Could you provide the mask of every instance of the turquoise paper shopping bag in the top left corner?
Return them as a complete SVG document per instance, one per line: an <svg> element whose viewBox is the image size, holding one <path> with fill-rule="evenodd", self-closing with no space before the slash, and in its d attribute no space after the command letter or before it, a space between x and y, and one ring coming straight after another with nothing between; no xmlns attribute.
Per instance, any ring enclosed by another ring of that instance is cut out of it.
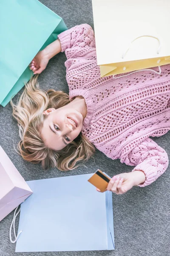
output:
<svg viewBox="0 0 170 256"><path fill-rule="evenodd" d="M28 82L28 65L67 29L64 21L38 0L0 1L0 104L5 107Z"/></svg>

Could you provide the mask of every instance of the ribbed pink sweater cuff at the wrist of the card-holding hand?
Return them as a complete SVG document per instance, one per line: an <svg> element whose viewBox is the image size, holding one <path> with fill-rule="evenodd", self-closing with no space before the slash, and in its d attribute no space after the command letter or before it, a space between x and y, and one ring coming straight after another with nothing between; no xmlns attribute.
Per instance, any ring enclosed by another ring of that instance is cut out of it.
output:
<svg viewBox="0 0 170 256"><path fill-rule="evenodd" d="M157 168L155 166L151 166L149 163L140 163L132 170L132 172L134 171L142 171L145 174L146 180L144 183L138 185L140 187L150 185L156 180Z"/></svg>

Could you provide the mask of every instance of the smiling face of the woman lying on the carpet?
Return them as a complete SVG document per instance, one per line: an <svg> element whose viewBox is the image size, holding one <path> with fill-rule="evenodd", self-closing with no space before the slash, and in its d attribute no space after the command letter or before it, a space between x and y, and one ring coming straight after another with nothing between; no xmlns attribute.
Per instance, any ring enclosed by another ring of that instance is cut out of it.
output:
<svg viewBox="0 0 170 256"><path fill-rule="evenodd" d="M49 108L41 130L42 139L48 148L59 151L73 141L82 129L82 114L65 105L62 108Z"/></svg>

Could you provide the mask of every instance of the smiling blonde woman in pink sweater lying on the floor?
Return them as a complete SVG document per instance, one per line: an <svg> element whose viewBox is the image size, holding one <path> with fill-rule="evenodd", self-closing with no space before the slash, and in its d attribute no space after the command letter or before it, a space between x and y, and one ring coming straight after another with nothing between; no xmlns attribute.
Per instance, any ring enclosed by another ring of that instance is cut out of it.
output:
<svg viewBox="0 0 170 256"><path fill-rule="evenodd" d="M41 90L36 75L17 105L11 102L22 157L41 162L43 168L67 171L88 160L96 147L107 157L135 166L132 172L113 176L108 190L122 194L155 181L167 169L168 156L149 137L170 130L170 65L161 67L161 75L153 69L119 79L101 78L94 31L82 24L38 52L30 69L41 73L59 52L67 57L69 96Z"/></svg>

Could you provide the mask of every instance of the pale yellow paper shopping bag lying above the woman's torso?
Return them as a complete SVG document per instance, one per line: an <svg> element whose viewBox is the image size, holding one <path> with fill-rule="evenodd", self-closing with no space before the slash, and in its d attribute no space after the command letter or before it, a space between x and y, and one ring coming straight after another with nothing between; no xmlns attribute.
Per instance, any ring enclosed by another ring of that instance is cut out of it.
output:
<svg viewBox="0 0 170 256"><path fill-rule="evenodd" d="M170 1L92 0L101 77L170 63Z"/></svg>

